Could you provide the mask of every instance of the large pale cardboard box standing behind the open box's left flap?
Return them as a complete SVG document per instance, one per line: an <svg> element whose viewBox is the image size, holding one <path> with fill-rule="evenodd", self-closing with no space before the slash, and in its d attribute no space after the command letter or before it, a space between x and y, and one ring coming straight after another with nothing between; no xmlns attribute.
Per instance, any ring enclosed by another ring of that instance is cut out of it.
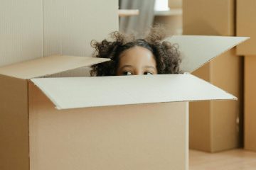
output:
<svg viewBox="0 0 256 170"><path fill-rule="evenodd" d="M91 40L118 30L117 9L117 0L1 1L0 67L55 54L90 56Z"/></svg>

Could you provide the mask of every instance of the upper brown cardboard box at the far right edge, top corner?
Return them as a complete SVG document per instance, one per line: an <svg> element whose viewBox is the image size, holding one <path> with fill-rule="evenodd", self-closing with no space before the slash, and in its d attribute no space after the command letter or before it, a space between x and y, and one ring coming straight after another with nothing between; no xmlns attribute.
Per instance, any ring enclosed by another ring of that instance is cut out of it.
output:
<svg viewBox="0 0 256 170"><path fill-rule="evenodd" d="M236 35L248 36L250 40L238 45L237 55L256 55L256 1L237 0L236 5Z"/></svg>

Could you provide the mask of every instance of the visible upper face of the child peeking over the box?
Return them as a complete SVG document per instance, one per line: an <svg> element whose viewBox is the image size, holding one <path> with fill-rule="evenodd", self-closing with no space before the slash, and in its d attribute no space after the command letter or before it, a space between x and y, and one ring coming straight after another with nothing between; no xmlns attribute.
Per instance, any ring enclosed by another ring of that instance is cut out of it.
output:
<svg viewBox="0 0 256 170"><path fill-rule="evenodd" d="M132 47L122 52L119 57L117 76L157 74L154 55L144 47Z"/></svg>

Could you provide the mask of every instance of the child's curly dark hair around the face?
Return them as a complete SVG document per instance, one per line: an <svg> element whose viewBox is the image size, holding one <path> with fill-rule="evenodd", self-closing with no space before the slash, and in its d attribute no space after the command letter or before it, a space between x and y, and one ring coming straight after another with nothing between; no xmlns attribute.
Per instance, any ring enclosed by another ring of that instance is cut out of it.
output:
<svg viewBox="0 0 256 170"><path fill-rule="evenodd" d="M119 64L119 56L125 50L139 46L145 47L154 55L158 74L178 74L181 63L178 45L163 41L165 33L162 28L151 28L145 38L136 39L135 35L125 35L117 31L111 33L112 40L97 42L92 40L95 48L93 57L110 58L110 62L103 62L92 66L91 76L114 76Z"/></svg>

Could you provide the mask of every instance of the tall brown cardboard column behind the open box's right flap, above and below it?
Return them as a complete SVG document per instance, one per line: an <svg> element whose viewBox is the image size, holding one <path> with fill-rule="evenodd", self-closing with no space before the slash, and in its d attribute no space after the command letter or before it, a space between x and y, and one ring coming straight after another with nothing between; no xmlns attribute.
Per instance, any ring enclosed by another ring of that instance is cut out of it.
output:
<svg viewBox="0 0 256 170"><path fill-rule="evenodd" d="M234 0L183 0L183 34L232 36L235 34L234 13ZM238 101L190 103L190 148L218 152L239 147L242 58L230 50L193 74L233 91Z"/></svg>

